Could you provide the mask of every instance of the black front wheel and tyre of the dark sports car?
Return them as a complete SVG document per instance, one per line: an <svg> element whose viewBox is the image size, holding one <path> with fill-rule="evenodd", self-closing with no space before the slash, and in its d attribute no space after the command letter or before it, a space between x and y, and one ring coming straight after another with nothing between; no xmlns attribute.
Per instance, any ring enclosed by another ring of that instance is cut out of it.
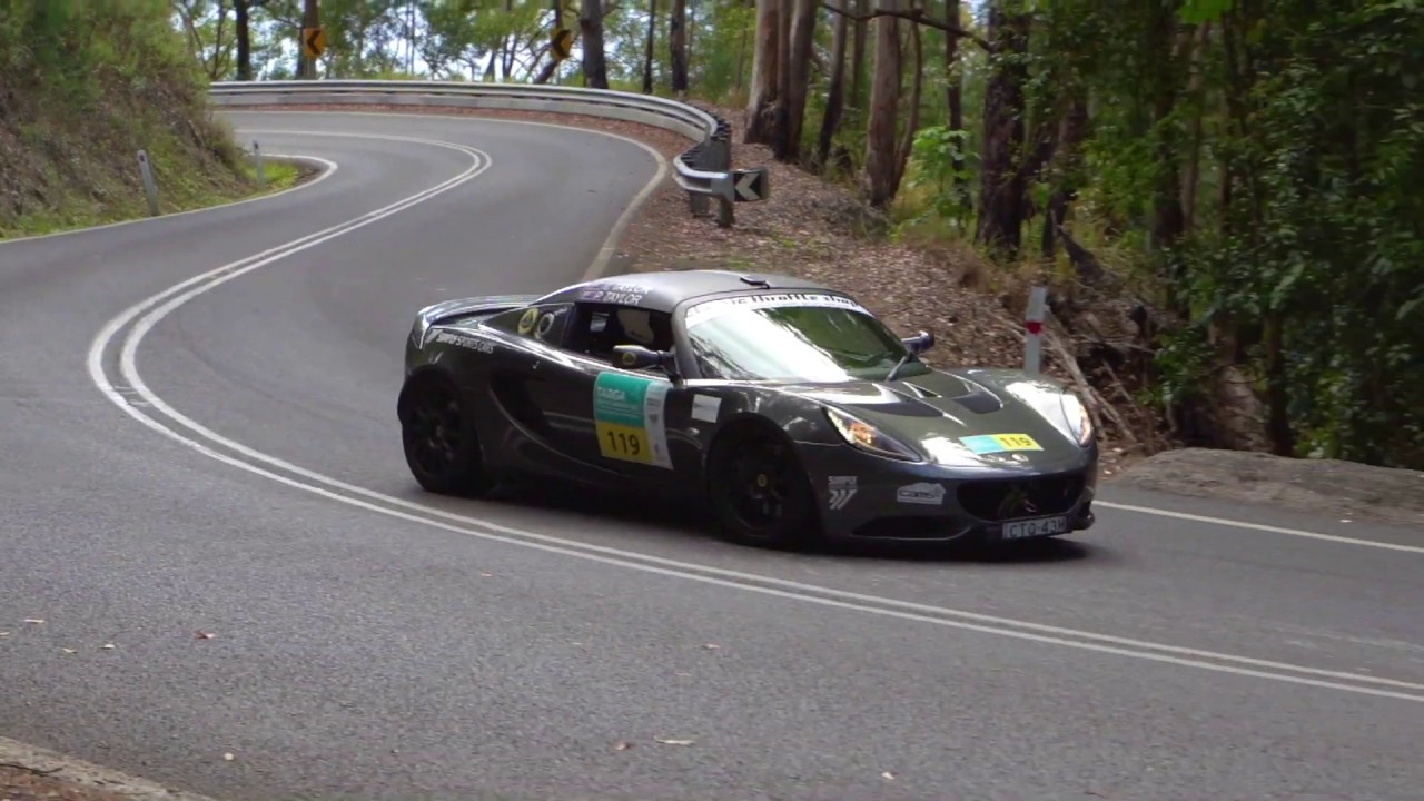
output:
<svg viewBox="0 0 1424 801"><path fill-rule="evenodd" d="M708 500L722 537L738 544L800 549L819 540L816 495L780 430L743 425L708 458Z"/></svg>

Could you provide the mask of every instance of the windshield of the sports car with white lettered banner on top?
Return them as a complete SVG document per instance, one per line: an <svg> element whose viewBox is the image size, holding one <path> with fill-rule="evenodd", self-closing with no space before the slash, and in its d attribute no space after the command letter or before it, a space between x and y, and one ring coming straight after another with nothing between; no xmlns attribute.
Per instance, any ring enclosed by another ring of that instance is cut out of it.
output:
<svg viewBox="0 0 1424 801"><path fill-rule="evenodd" d="M759 308L753 301L716 308L719 304L722 301L709 301L688 311L688 341L705 378L881 381L906 355L894 334L849 301L844 306L768 304ZM709 309L703 312L702 306ZM928 368L911 358L899 375L926 372Z"/></svg>

